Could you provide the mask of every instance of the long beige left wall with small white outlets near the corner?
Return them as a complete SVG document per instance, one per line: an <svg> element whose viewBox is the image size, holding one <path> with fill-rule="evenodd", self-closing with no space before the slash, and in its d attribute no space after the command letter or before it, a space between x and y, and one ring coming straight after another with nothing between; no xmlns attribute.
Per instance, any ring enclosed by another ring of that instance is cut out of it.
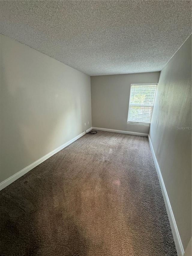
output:
<svg viewBox="0 0 192 256"><path fill-rule="evenodd" d="M92 125L90 76L0 40L1 182Z"/></svg>

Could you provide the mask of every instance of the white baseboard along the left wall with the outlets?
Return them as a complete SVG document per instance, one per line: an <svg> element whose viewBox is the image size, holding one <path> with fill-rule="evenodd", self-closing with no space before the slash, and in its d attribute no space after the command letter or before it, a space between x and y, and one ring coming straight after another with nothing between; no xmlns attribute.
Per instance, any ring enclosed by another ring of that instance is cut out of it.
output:
<svg viewBox="0 0 192 256"><path fill-rule="evenodd" d="M88 130L86 130L87 132L91 131L92 127L89 128ZM42 162L44 162L46 159L48 159L49 157L51 157L52 155L56 154L57 152L59 152L61 149L64 149L66 146L70 145L71 143L73 143L75 140L78 140L80 137L82 137L83 135L85 135L85 132L82 132L81 134L77 135L76 137L74 137L73 139L67 141L66 143L64 143L63 145L61 145L60 147L58 147L57 149L54 149L53 151L51 151L50 153L48 153L47 155L44 155L43 157L41 157L40 159L38 159L37 161L35 161L34 163L30 164L29 166L25 167L24 169L20 170L19 172L15 173L13 176L9 177L8 179L4 180L3 182L0 183L0 190L2 190L3 188L7 187L8 185L10 185L12 182L14 182L16 179L19 179L21 176L23 176L24 174L26 174L27 172L29 172L30 170L32 170L33 168L35 168L37 165L41 164Z"/></svg>

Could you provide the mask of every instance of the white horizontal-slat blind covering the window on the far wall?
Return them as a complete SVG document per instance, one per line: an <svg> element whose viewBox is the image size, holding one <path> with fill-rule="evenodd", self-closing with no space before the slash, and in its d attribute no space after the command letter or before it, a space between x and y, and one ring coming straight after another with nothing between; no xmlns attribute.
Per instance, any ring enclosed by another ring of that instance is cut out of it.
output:
<svg viewBox="0 0 192 256"><path fill-rule="evenodd" d="M157 84L132 84L129 100L128 123L150 124Z"/></svg>

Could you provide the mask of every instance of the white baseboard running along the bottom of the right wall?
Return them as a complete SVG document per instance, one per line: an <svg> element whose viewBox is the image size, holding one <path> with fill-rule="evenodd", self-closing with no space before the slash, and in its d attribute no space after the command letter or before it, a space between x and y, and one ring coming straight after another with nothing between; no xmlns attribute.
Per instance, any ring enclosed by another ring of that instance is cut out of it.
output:
<svg viewBox="0 0 192 256"><path fill-rule="evenodd" d="M172 211L172 208L171 208L169 197L168 197L168 194L167 194L167 191L166 191L166 188L165 188L163 177L161 175L161 170L159 168L158 161L157 161L157 158L155 156L155 152L154 152L154 149L153 149L153 145L152 145L150 136L148 136L148 138L149 138L149 145L150 145L152 155L153 155L153 160L154 160L155 167L156 167L156 170L157 170L157 173L158 173L158 178L159 178L159 182L160 182L160 185L161 185L161 190L162 190L162 194L163 194L163 197L164 197L165 206L166 206L167 214L168 214L169 221L170 221L170 226L171 226L171 230L172 230L172 233L173 233L173 239L175 241L177 254L178 254L178 256L183 256L184 255L184 248L183 248L182 241L181 241L179 231L178 231L178 228L177 228L177 224L176 224L176 221L175 221L175 218L174 218L174 215L173 215L173 211Z"/></svg>

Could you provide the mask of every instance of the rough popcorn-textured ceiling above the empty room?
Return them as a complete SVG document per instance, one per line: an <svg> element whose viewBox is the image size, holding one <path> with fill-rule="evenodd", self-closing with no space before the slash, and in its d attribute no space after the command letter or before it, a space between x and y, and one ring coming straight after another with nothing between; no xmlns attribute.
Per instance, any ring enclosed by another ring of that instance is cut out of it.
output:
<svg viewBox="0 0 192 256"><path fill-rule="evenodd" d="M91 76L160 71L191 1L0 1L0 33Z"/></svg>

